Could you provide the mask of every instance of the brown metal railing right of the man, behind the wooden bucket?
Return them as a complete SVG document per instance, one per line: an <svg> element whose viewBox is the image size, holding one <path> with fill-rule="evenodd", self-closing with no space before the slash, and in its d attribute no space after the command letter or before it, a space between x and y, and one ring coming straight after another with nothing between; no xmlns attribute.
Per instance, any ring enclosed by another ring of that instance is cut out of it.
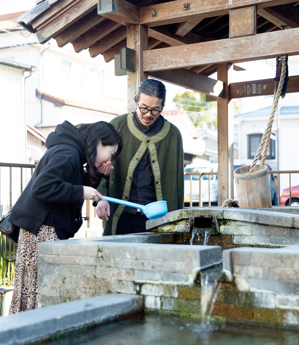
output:
<svg viewBox="0 0 299 345"><path fill-rule="evenodd" d="M289 200L291 200L291 174L299 174L299 170L270 170L269 171L269 178L270 174L277 175L277 203L280 206L280 175L281 174L289 174ZM209 203L208 205L211 206L211 188L210 188L210 177L211 175L218 175L218 172L185 172L185 175L190 176L190 207L193 205L192 201L192 176L197 175L199 176L199 206L202 206L202 176L208 175L209 176ZM193 180L194 181L194 180ZM195 202L195 201L194 201ZM197 203L197 201L196 201ZM289 202L290 204L290 202Z"/></svg>

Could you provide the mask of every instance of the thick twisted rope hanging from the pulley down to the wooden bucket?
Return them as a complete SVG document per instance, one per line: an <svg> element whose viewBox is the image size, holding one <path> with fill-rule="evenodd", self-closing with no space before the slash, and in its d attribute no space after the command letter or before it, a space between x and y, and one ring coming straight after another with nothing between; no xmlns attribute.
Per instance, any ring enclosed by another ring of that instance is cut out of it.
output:
<svg viewBox="0 0 299 345"><path fill-rule="evenodd" d="M267 155L267 150L268 150L268 144L269 144L269 140L270 140L271 129L272 129L272 124L273 124L273 120L274 120L274 115L275 115L275 111L276 111L277 104L278 104L278 101L279 101L279 97L280 97L280 94L281 94L282 86L284 85L284 82L285 82L285 76L286 76L286 71L287 71L286 60L282 59L281 62L282 62L281 75L280 75L280 80L279 80L277 91L274 93L274 100L273 100L273 105L272 105L271 113L270 113L269 120L268 120L266 129L265 129L265 133L264 133L263 137L261 138L261 142L259 144L259 148L258 148L258 150L256 152L256 155L255 155L254 160L252 162L252 165L250 167L249 174L252 174L254 172L254 168L255 168L256 163L257 163L257 161L259 159L261 151L263 150L263 147L265 145L266 139L268 139L268 137L269 137L268 142L267 142L267 147L265 145L266 151L264 150L262 161L261 161L261 164L265 163L265 159L266 159L266 155Z"/></svg>

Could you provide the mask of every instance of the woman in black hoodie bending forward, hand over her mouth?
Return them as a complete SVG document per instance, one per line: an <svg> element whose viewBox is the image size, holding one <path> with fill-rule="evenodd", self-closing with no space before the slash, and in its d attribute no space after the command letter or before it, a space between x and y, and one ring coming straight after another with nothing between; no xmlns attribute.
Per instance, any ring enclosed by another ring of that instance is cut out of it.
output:
<svg viewBox="0 0 299 345"><path fill-rule="evenodd" d="M38 242L74 237L83 223L84 200L105 200L95 188L113 169L122 140L104 121L77 126L64 121L46 147L9 217L20 227L10 314L38 307Z"/></svg>

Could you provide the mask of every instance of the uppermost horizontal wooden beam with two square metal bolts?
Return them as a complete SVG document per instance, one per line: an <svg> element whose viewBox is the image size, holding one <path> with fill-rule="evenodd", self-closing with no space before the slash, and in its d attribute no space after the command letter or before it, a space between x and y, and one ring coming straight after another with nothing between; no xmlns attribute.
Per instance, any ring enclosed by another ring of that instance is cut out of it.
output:
<svg viewBox="0 0 299 345"><path fill-rule="evenodd" d="M153 27L182 21L201 20L228 14L229 10L234 8L254 5L269 7L290 2L290 0L234 0L232 4L229 4L227 0L201 0L190 4L189 10L184 10L185 0L174 0L140 7L140 24ZM157 11L156 17L152 17L152 11Z"/></svg>

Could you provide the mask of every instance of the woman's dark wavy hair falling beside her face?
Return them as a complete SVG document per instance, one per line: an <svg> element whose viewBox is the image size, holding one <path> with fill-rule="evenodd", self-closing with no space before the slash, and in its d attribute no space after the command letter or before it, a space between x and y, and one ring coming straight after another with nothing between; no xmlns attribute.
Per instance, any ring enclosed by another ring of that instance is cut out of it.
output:
<svg viewBox="0 0 299 345"><path fill-rule="evenodd" d="M123 147L122 139L114 126L106 121L98 121L94 122L93 124L78 124L75 127L85 141L85 154L87 159L86 170L89 173L90 184L94 184L97 182L100 175L94 165L99 140L102 141L102 145L104 147L118 144L118 149L111 159L111 161L115 161L120 155Z"/></svg>

